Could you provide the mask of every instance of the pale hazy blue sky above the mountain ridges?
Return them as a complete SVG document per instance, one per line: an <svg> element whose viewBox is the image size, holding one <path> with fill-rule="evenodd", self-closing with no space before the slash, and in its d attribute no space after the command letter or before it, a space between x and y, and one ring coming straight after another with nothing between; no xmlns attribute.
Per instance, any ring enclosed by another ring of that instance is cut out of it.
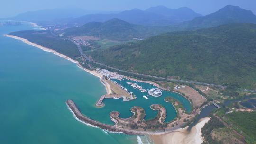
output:
<svg viewBox="0 0 256 144"><path fill-rule="evenodd" d="M40 9L80 7L88 10L116 11L146 9L164 5L168 8L189 7L203 15L217 11L225 5L240 6L256 14L256 0L0 0L0 17Z"/></svg>

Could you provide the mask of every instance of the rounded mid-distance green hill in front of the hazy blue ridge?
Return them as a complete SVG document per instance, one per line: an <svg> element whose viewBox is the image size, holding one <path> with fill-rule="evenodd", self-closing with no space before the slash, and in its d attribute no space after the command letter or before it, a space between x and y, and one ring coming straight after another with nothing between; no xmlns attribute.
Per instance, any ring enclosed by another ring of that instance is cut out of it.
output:
<svg viewBox="0 0 256 144"><path fill-rule="evenodd" d="M64 36L95 36L104 39L127 41L133 38L144 39L165 33L170 28L140 26L120 19L111 19L104 23L90 22L81 27L68 28L58 33Z"/></svg>

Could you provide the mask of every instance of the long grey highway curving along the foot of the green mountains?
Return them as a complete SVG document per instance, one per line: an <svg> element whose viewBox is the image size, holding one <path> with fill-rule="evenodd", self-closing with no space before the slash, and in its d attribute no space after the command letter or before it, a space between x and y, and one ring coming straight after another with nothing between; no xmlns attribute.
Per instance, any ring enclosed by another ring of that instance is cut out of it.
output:
<svg viewBox="0 0 256 144"><path fill-rule="evenodd" d="M57 35L57 34L54 33L54 30L53 30L54 28L55 28L55 26L50 29L51 34L55 35L55 36L60 36L60 35ZM130 74L133 74L133 75L143 76L143 77L148 77L148 78L156 78L156 79L163 80L163 81L174 81L174 82L190 83L190 84L197 84L197 85L205 85L205 86L217 87L217 88L227 88L227 86L223 86L223 85L203 83L203 82L191 81L191 80L170 79L170 78L164 78L164 77L158 77L158 76L152 76L152 75L146 75L146 74L140 74L140 73L135 73L135 72L128 72L128 71L125 71L125 70L120 70L120 69L105 65L103 63L99 63L99 62L94 61L92 58L90 58L89 56L87 56L86 54L83 53L81 46L79 44L77 44L73 39L68 38L68 37L64 37L64 36L60 36L60 37L68 39L69 41L74 43L77 46L80 54L82 55L82 57L85 58L86 61L90 61L92 63L98 64L98 65L101 65L101 66L104 66L104 67L107 67L107 68L110 68L110 69L113 69L113 70L116 70L116 71L119 71L119 72L126 72L126 73L130 73ZM256 93L256 90L249 90L249 89L241 89L241 90Z"/></svg>

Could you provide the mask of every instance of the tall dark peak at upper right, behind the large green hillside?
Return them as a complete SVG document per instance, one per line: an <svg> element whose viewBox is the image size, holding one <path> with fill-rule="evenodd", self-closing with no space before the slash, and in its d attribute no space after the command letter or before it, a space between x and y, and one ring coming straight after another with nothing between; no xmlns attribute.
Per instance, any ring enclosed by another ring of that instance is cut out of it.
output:
<svg viewBox="0 0 256 144"><path fill-rule="evenodd" d="M227 5L212 14L194 18L192 21L178 25L180 29L200 29L215 27L228 23L256 23L256 16L250 10Z"/></svg>

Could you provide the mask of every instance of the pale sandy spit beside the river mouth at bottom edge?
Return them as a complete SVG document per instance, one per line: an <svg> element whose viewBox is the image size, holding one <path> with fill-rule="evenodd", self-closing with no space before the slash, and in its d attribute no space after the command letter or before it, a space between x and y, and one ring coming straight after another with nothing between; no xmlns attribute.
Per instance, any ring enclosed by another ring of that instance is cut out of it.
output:
<svg viewBox="0 0 256 144"><path fill-rule="evenodd" d="M201 128L209 120L209 117L201 119L196 126L192 127L190 132L186 128L178 129L164 135L153 135L151 139L155 144L201 144L203 142Z"/></svg>

